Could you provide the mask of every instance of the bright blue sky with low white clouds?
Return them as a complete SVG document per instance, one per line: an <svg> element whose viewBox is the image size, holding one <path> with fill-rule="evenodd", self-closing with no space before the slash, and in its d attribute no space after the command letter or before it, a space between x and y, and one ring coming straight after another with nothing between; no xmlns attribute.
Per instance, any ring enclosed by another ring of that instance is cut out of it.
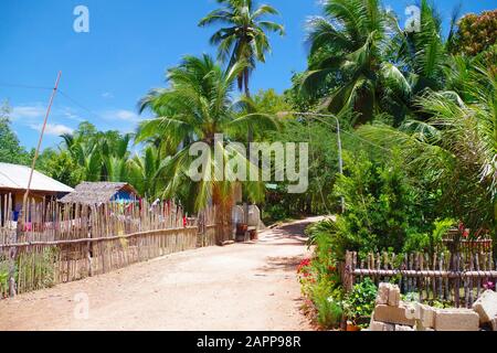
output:
<svg viewBox="0 0 497 353"><path fill-rule="evenodd" d="M252 89L283 92L292 72L306 66L305 22L319 14L317 0L266 0L281 11L285 38L273 36L273 54L253 76ZM416 0L387 0L399 15ZM448 21L452 9L463 12L497 8L497 0L437 0ZM76 33L73 10L89 10L89 33ZM38 140L51 87L62 71L61 90L53 106L43 147L60 142L82 120L99 129L133 131L140 117L139 98L163 86L167 67L186 54L214 53L213 29L197 26L216 7L214 0L2 0L0 3L0 100L13 107L13 127L31 148ZM20 86L21 87L20 87ZM70 98L67 98L67 96Z"/></svg>

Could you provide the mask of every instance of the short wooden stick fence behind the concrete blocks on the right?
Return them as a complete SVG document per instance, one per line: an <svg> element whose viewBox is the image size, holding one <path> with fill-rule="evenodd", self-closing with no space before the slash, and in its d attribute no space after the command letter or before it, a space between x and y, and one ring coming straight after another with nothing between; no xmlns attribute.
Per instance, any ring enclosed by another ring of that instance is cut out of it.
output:
<svg viewBox="0 0 497 353"><path fill-rule="evenodd" d="M402 293L416 292L422 302L443 301L470 308L489 282L496 284L496 260L490 252L465 252L434 255L370 254L359 259L348 252L342 264L342 281L348 291L355 282L371 278L398 284Z"/></svg>

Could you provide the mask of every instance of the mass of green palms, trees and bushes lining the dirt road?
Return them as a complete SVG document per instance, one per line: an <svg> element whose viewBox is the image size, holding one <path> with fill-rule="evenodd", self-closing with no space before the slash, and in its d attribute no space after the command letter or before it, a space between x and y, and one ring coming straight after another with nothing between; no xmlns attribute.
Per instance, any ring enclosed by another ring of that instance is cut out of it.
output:
<svg viewBox="0 0 497 353"><path fill-rule="evenodd" d="M288 194L284 183L245 184L244 200L260 204L269 223L338 214L308 228L315 255L298 269L306 309L325 329L337 328L343 314L363 324L373 309L371 282L342 290L338 264L346 250L430 253L453 227L470 229L468 238L496 240L497 10L455 13L444 31L435 6L421 0L420 31L409 32L379 0L322 1L321 17L307 23L308 67L277 94L250 89L251 75L269 52L268 34L284 34L283 25L269 21L276 9L251 0L218 2L220 9L200 21L215 28L218 60L183 57L167 72L167 88L145 95L140 109L155 118L136 133L83 122L43 152L40 171L73 186L128 181L147 197L176 199L187 210L203 207L210 196L228 207L233 184L186 176L192 142L213 147L216 132L241 142L308 142L308 192ZM237 100L236 88L243 93ZM282 111L338 117L343 174L335 119ZM0 137L0 161L29 163L7 104ZM139 152L131 152L137 146Z"/></svg>

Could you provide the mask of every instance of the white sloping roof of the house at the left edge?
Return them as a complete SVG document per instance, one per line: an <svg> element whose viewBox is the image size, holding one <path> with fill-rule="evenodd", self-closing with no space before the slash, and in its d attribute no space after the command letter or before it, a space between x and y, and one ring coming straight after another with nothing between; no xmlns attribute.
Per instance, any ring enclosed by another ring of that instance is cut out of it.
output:
<svg viewBox="0 0 497 353"><path fill-rule="evenodd" d="M29 167L0 163L0 189L27 190L30 172L31 168ZM38 171L33 172L31 190L61 193L74 191L74 189Z"/></svg>

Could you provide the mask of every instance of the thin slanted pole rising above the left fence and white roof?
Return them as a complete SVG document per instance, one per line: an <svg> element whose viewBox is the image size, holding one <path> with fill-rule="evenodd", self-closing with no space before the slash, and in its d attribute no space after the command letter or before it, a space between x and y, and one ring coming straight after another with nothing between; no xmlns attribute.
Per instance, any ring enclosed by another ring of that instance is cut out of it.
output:
<svg viewBox="0 0 497 353"><path fill-rule="evenodd" d="M43 135L45 133L46 122L49 121L49 116L50 116L50 111L52 110L53 100L54 100L55 95L59 89L59 83L61 81L61 76L62 76L62 72L59 72L57 78L55 81L55 86L53 87L52 95L50 97L49 107L46 108L45 119L43 120L43 126L40 131L40 139L38 140L38 146L36 146L35 152L34 152L33 162L31 164L30 179L28 181L28 186L25 189L24 199L22 201L22 207L21 207L21 211L19 212L18 226L15 229L14 237L12 239L12 244L15 244L18 242L18 239L20 238L21 234L24 231L24 217L27 214L25 208L28 206L28 200L29 200L30 190L31 190L31 182L33 180L34 168L36 167L36 160L40 154L40 149L41 149L41 145L43 141ZM15 256L17 256L15 253L17 253L17 248L11 247L10 248L10 269L9 269L9 296L10 297L15 297L15 295L17 295L15 276L14 276L14 274L15 274Z"/></svg>

